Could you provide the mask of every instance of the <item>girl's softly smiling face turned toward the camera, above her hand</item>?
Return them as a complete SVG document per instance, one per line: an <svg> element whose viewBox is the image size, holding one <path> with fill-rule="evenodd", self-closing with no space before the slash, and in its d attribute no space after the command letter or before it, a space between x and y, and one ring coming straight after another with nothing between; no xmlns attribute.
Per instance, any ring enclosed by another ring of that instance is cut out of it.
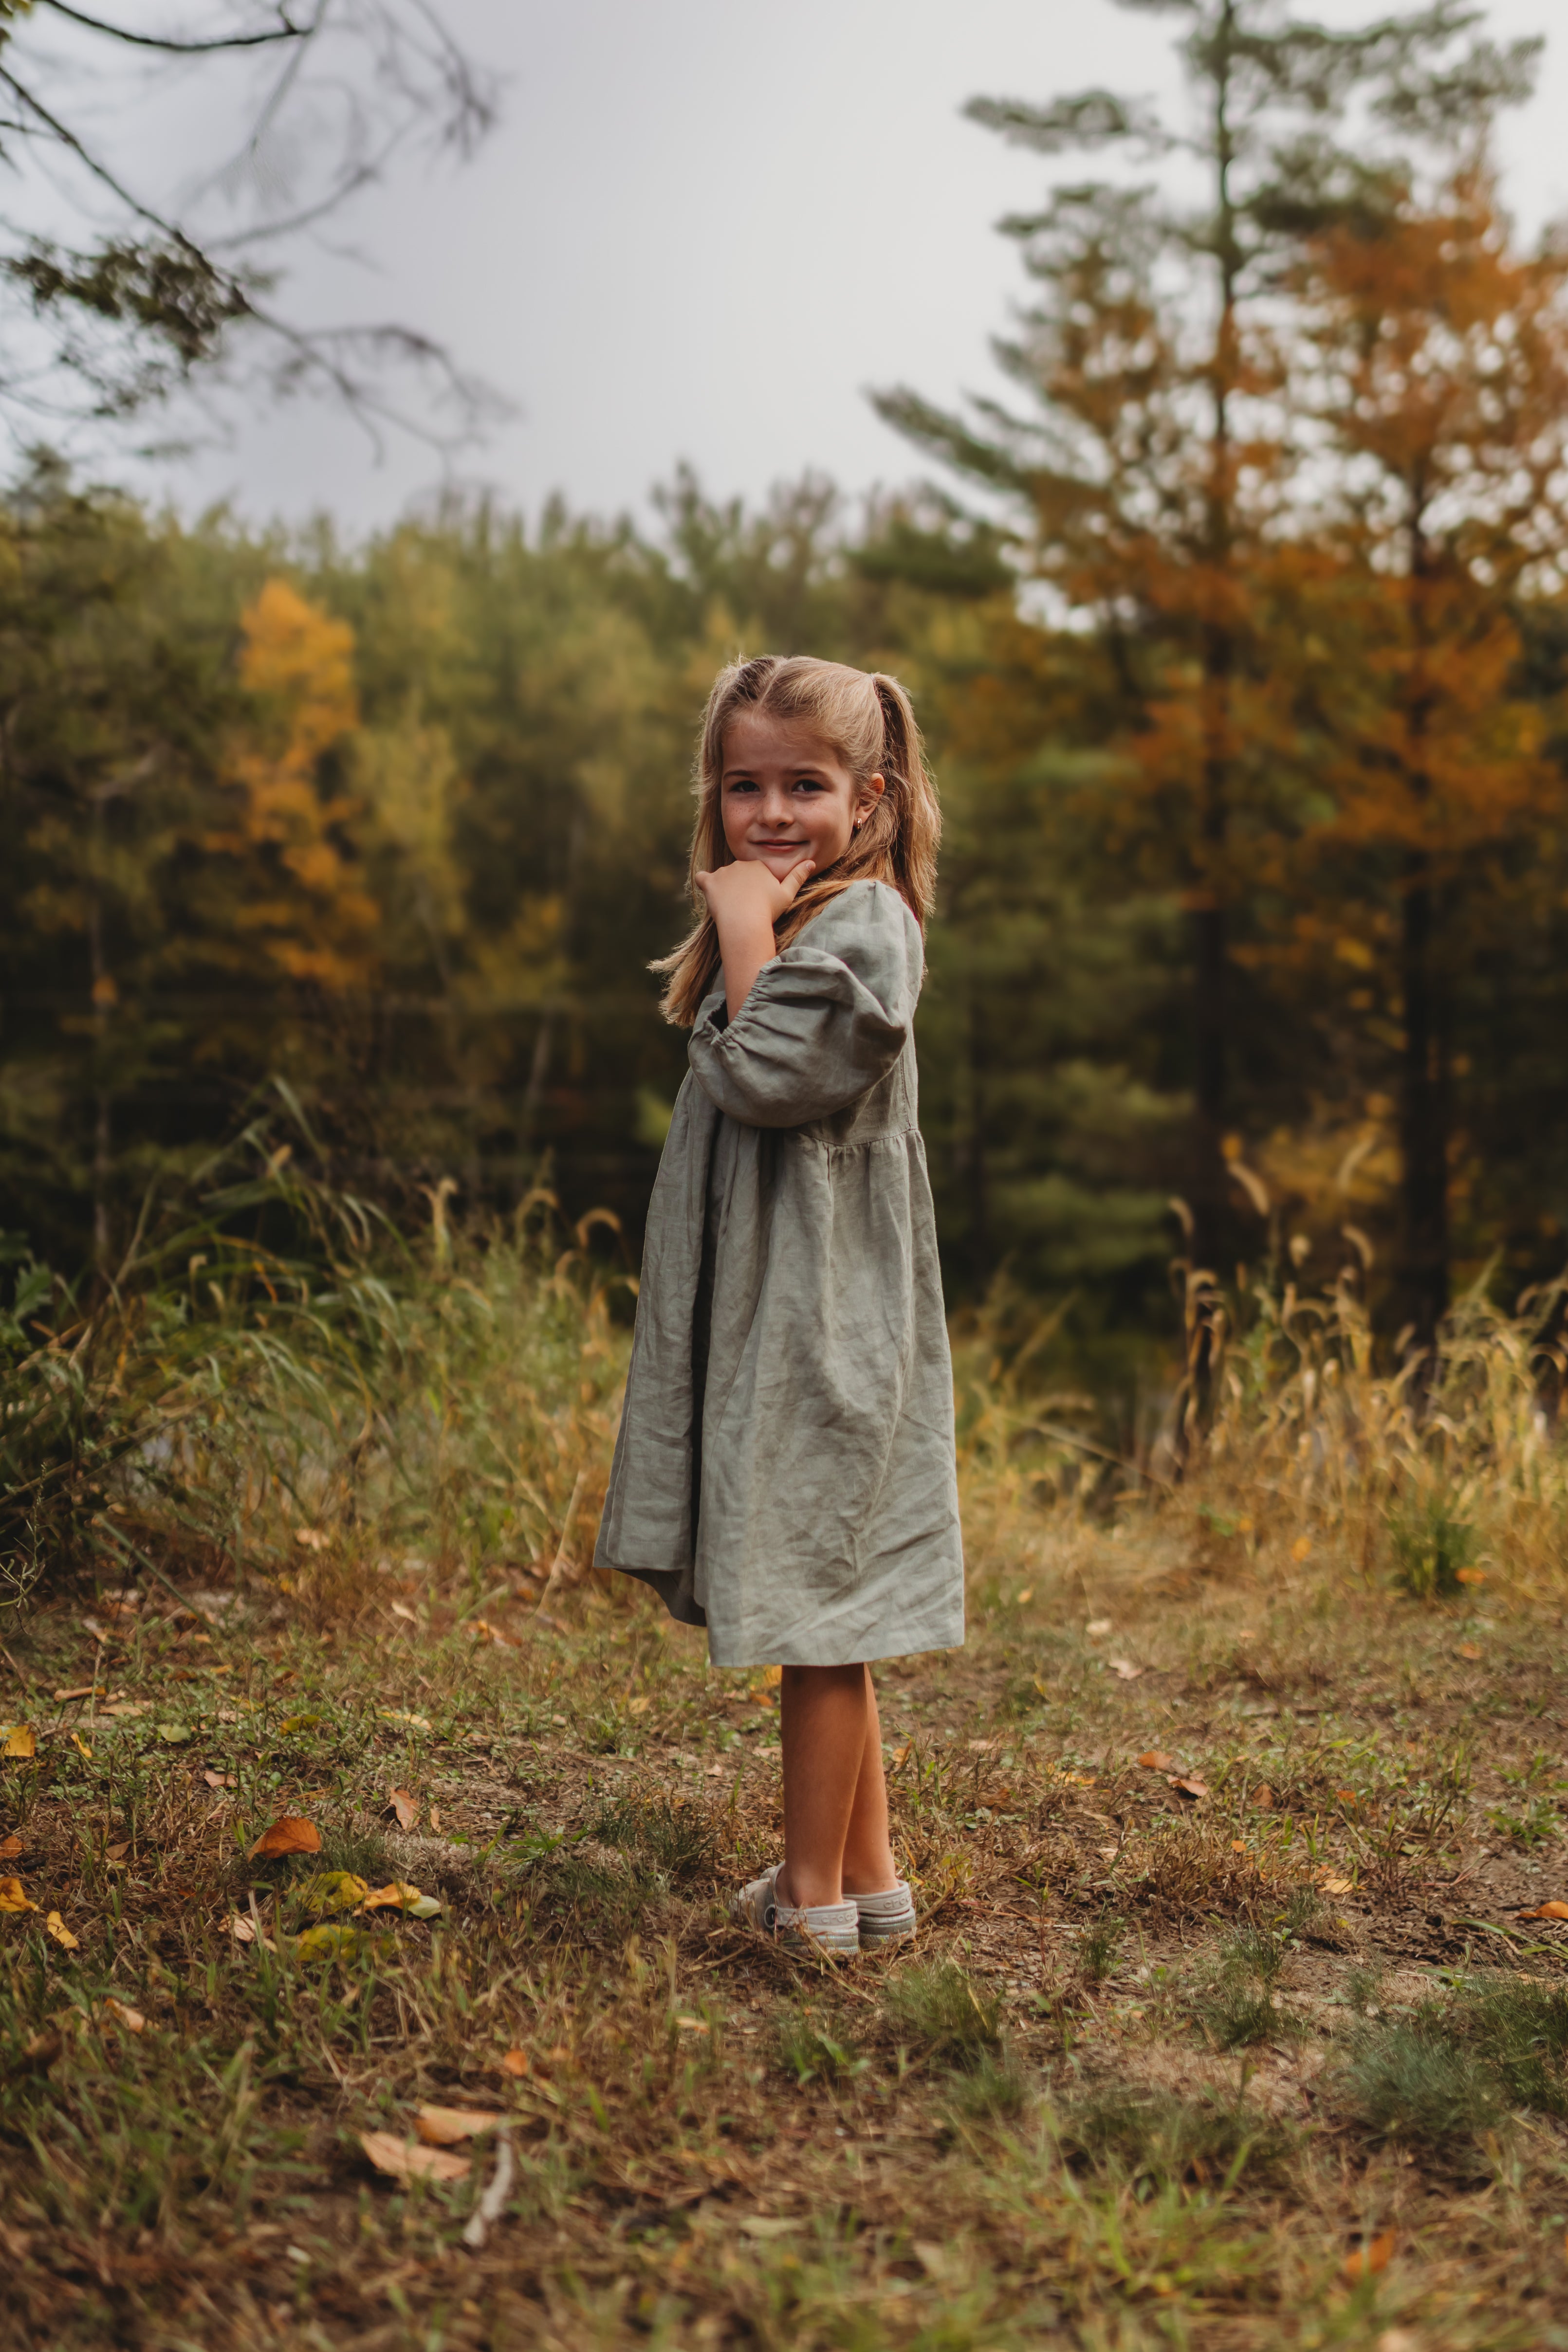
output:
<svg viewBox="0 0 1568 2352"><path fill-rule="evenodd" d="M725 727L718 807L730 856L756 858L779 880L800 863L833 866L883 793L881 776L855 776L819 734L798 720L742 710Z"/></svg>

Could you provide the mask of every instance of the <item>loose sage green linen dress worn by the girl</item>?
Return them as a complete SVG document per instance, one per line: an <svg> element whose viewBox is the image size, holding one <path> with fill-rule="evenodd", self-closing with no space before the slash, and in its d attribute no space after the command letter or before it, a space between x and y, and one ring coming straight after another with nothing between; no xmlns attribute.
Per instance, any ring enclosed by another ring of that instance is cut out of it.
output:
<svg viewBox="0 0 1568 2352"><path fill-rule="evenodd" d="M899 894L852 882L692 1028L593 1557L716 1665L963 1642L921 976Z"/></svg>

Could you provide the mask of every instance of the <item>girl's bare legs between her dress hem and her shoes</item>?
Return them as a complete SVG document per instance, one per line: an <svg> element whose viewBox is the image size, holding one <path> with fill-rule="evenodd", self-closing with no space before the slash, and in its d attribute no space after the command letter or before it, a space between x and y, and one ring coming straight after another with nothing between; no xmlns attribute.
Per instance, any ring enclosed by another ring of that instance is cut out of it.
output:
<svg viewBox="0 0 1568 2352"><path fill-rule="evenodd" d="M892 1886L876 1693L864 1665L786 1665L779 1898L815 1907Z"/></svg>

